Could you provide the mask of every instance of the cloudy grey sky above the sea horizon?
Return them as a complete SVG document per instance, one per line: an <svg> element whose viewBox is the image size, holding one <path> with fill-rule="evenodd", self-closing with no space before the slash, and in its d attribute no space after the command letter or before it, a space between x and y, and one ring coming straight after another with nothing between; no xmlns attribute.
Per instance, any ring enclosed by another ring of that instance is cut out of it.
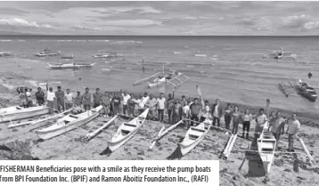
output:
<svg viewBox="0 0 319 186"><path fill-rule="evenodd" d="M319 2L0 2L0 35L316 36Z"/></svg>

